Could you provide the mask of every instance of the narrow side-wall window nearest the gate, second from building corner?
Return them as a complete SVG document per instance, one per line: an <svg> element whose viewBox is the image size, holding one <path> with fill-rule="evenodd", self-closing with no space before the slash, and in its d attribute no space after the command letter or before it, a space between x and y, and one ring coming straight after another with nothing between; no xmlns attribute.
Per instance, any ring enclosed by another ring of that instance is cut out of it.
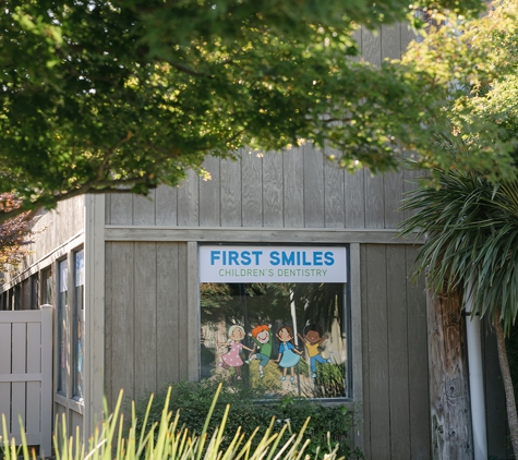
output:
<svg viewBox="0 0 518 460"><path fill-rule="evenodd" d="M69 302L69 263L58 262L58 392L67 395L67 343L68 343L68 302Z"/></svg>

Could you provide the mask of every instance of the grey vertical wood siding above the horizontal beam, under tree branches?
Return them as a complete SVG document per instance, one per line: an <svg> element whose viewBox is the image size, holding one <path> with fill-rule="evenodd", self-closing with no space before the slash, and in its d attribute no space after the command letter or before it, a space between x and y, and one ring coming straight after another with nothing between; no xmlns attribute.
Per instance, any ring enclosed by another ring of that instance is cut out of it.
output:
<svg viewBox="0 0 518 460"><path fill-rule="evenodd" d="M308 144L281 153L209 157L210 180L194 172L148 197L107 195L106 223L130 226L395 229L415 172L372 177L330 162Z"/></svg>

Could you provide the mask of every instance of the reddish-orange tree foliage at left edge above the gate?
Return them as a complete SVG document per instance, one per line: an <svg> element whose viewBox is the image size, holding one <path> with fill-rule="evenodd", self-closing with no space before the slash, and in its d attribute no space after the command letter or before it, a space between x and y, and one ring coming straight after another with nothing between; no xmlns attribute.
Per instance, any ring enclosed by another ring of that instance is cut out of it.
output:
<svg viewBox="0 0 518 460"><path fill-rule="evenodd" d="M0 194L0 213L9 213L17 207L20 202L13 194ZM29 211L0 222L0 271L5 273L16 267L28 254L33 223L34 216Z"/></svg>

